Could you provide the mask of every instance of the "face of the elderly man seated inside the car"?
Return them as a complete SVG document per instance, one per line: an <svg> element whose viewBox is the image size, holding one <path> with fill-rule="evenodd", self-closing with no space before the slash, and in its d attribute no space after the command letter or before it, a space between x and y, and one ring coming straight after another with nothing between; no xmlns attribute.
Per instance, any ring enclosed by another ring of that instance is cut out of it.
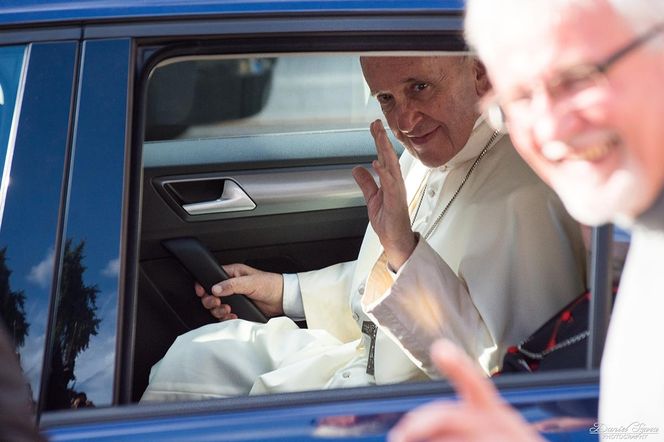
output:
<svg viewBox="0 0 664 442"><path fill-rule="evenodd" d="M364 78L390 129L429 167L466 144L488 88L484 68L461 57L363 57Z"/></svg>

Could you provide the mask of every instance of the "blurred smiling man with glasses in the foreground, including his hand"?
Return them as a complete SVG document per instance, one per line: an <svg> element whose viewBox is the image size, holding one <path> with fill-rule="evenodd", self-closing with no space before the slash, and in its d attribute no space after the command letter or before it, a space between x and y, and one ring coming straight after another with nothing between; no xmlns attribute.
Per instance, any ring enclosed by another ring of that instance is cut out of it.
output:
<svg viewBox="0 0 664 442"><path fill-rule="evenodd" d="M664 335L664 3L469 0L467 8L467 37L494 87L485 101L494 123L574 217L633 231L602 361L599 424L637 422L662 437L664 356L652 339ZM434 345L432 359L462 400L415 411L393 440L539 437L449 343Z"/></svg>

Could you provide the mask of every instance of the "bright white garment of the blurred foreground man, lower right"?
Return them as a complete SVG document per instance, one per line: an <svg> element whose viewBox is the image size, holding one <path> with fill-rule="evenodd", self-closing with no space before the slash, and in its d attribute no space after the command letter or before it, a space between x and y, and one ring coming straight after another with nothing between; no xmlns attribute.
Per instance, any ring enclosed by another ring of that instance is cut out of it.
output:
<svg viewBox="0 0 664 442"><path fill-rule="evenodd" d="M664 192L633 226L600 376L605 438L664 440ZM616 435L616 433L618 433Z"/></svg>

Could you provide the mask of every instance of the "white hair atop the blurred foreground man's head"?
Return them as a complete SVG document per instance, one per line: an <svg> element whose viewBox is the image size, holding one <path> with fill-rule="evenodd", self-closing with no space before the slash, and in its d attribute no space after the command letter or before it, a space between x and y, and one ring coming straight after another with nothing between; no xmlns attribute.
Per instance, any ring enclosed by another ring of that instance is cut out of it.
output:
<svg viewBox="0 0 664 442"><path fill-rule="evenodd" d="M490 55L492 42L501 27L532 21L555 25L570 9L592 8L598 0L466 0L466 40L480 58ZM662 0L603 0L640 34L664 23Z"/></svg>

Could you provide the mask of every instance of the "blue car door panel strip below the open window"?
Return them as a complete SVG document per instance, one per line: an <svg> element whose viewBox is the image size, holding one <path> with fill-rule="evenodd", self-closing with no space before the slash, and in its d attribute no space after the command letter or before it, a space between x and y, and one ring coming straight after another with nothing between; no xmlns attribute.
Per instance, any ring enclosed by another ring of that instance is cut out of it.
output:
<svg viewBox="0 0 664 442"><path fill-rule="evenodd" d="M593 418L578 419L575 425L557 424L561 412L588 413L596 407L597 385L540 387L504 394L528 421L549 422L543 435L552 441L592 441ZM449 395L445 396L447 400ZM51 428L51 441L99 440L144 441L210 440L233 441L315 441L315 440L384 440L389 428L407 410L430 401L429 396L339 401L290 407L265 407L260 410L183 413L174 418L147 417L111 420ZM441 399L445 400L445 399ZM213 404L209 404L213 407ZM137 413L141 408L134 408ZM129 410L127 410L129 411ZM343 423L335 418L343 417ZM350 419L349 419L350 418Z"/></svg>

